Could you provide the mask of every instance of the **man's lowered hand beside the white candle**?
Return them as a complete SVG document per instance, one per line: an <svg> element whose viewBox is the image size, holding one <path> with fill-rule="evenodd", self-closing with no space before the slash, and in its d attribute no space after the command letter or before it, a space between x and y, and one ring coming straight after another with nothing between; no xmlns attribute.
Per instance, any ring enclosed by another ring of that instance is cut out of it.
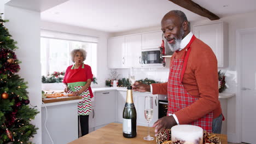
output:
<svg viewBox="0 0 256 144"><path fill-rule="evenodd" d="M175 121L173 116L165 116L158 119L158 121L156 121L153 125L153 127L155 128L155 136L157 136L160 131L164 129L170 129L174 125L177 125L177 122Z"/></svg>

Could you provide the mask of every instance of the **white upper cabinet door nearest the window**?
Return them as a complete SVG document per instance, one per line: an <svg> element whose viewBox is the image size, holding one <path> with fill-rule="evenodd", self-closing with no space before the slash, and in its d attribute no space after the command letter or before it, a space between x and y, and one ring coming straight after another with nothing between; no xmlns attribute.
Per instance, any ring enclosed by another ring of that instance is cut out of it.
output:
<svg viewBox="0 0 256 144"><path fill-rule="evenodd" d="M125 37L108 39L108 68L124 68L127 65Z"/></svg>

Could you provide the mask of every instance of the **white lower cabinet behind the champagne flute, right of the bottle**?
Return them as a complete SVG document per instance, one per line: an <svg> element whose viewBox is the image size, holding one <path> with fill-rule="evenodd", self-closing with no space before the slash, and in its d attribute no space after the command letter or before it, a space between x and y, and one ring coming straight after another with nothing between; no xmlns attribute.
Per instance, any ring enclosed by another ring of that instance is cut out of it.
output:
<svg viewBox="0 0 256 144"><path fill-rule="evenodd" d="M149 123L150 127L158 120L158 95L151 93L136 92L135 97L137 98L137 125L148 126L147 121L144 117L144 100L145 97L153 97L153 118Z"/></svg>

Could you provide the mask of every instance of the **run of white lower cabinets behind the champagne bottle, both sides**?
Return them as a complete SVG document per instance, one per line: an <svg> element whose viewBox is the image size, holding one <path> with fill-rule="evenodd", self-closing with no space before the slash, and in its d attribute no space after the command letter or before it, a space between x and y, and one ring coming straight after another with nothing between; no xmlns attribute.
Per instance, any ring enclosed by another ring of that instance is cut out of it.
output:
<svg viewBox="0 0 256 144"><path fill-rule="evenodd" d="M89 116L89 133L113 122L123 123L126 91L95 92L95 106ZM150 127L158 120L158 95L133 92L133 103L137 112L137 125L148 126L144 117L144 99L153 97L153 118Z"/></svg>

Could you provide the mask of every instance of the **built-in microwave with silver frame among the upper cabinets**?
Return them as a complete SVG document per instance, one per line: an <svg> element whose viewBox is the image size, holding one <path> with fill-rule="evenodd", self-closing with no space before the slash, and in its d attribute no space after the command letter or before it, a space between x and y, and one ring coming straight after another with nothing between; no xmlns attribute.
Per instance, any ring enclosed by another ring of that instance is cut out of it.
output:
<svg viewBox="0 0 256 144"><path fill-rule="evenodd" d="M161 66L163 58L159 49L144 50L141 52L141 64L143 66Z"/></svg>

